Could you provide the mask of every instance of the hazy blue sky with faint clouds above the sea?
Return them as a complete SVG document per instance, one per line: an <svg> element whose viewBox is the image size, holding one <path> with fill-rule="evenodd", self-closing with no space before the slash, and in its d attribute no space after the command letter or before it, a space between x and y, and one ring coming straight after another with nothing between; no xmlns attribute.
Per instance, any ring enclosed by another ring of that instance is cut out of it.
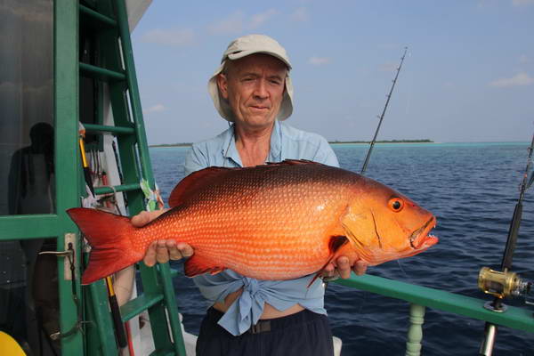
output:
<svg viewBox="0 0 534 356"><path fill-rule="evenodd" d="M534 0L156 0L132 33L150 144L228 127L207 94L231 40L272 36L295 87L287 124L369 141L406 59L378 140L530 142Z"/></svg>

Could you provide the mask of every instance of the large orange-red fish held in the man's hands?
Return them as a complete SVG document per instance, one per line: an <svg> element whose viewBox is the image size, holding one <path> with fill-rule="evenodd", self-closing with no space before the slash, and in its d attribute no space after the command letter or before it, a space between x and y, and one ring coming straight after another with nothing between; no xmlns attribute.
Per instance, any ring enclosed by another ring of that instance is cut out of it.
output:
<svg viewBox="0 0 534 356"><path fill-rule="evenodd" d="M68 213L93 250L91 283L142 260L157 239L193 247L185 274L231 269L256 279L295 279L338 255L371 265L416 255L437 239L433 214L360 174L308 161L209 167L174 188L171 210L143 228L93 209ZM100 222L99 222L100 221Z"/></svg>

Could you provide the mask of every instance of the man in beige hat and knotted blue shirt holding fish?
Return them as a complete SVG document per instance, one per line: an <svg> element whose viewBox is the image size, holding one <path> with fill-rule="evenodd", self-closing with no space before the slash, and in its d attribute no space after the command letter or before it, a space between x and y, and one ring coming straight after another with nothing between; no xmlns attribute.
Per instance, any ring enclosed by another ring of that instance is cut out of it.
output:
<svg viewBox="0 0 534 356"><path fill-rule="evenodd" d="M286 51L269 36L242 36L231 42L208 91L219 114L233 125L193 145L186 174L207 166L256 166L288 158L338 166L324 138L281 122L293 111L290 69ZM139 214L132 223L142 226L158 214ZM151 266L193 253L189 245L162 240L149 247L144 262ZM346 257L339 257L336 266L328 265L323 276L350 276ZM362 274L366 268L359 261L353 271ZM214 303L202 322L197 354L331 355L324 286L316 280L307 287L312 278L257 280L228 270L196 277L200 292Z"/></svg>

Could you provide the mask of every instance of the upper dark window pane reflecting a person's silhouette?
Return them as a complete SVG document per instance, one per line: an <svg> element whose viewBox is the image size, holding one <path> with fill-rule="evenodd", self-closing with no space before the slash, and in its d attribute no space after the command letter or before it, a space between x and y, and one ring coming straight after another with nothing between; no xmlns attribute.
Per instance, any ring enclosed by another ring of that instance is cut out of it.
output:
<svg viewBox="0 0 534 356"><path fill-rule="evenodd" d="M53 1L3 0L0 24L0 214L53 214Z"/></svg>

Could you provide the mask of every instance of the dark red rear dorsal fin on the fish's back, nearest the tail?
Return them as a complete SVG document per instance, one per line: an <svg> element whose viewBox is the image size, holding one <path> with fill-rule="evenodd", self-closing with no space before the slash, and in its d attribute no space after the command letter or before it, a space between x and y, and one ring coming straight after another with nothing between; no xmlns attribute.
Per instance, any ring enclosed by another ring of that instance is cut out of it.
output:
<svg viewBox="0 0 534 356"><path fill-rule="evenodd" d="M214 180L233 169L235 168L212 166L191 173L176 184L169 197L169 206L181 205L182 202L195 194L197 190L212 184Z"/></svg>

